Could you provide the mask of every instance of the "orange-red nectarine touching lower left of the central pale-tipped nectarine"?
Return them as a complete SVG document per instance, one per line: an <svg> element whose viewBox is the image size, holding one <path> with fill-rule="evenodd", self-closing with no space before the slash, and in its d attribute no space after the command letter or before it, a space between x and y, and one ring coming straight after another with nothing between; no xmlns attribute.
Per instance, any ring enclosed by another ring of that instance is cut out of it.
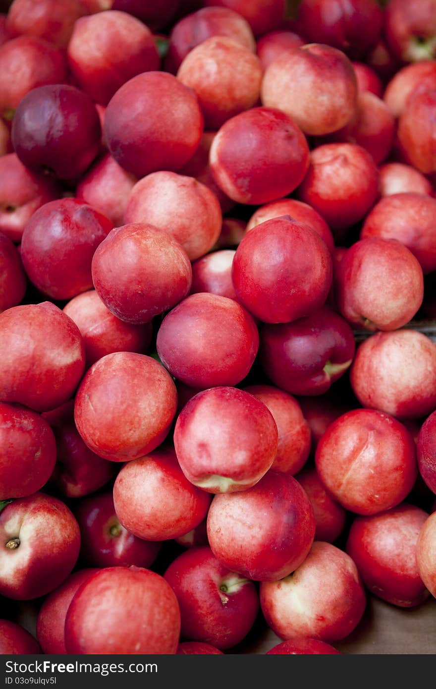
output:
<svg viewBox="0 0 436 689"><path fill-rule="evenodd" d="M163 447L125 464L114 485L121 524L138 538L178 538L203 522L210 495L183 475L176 454Z"/></svg>

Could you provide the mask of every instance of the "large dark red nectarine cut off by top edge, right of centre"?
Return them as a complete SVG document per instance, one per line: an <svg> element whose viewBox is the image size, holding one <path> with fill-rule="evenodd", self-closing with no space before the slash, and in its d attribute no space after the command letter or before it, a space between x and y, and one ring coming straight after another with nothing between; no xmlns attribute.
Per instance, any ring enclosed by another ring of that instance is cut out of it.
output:
<svg viewBox="0 0 436 689"><path fill-rule="evenodd" d="M298 20L310 43L327 43L360 57L380 37L383 13L375 0L303 0Z"/></svg>

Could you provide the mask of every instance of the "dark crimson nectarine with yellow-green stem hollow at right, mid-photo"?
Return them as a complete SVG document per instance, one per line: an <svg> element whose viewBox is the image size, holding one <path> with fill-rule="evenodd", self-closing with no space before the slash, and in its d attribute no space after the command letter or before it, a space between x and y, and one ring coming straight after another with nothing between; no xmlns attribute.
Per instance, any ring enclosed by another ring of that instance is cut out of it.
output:
<svg viewBox="0 0 436 689"><path fill-rule="evenodd" d="M326 307L260 331L262 367L292 395L322 395L351 366L354 351L351 327Z"/></svg>

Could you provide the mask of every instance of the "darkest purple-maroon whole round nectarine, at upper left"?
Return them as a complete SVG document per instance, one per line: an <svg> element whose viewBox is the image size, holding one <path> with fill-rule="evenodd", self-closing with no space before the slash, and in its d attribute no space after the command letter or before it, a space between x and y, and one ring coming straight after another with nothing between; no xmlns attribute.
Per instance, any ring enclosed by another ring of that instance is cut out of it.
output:
<svg viewBox="0 0 436 689"><path fill-rule="evenodd" d="M23 165L60 179L81 176L101 145L100 120L90 96L70 85L33 89L17 107L12 143Z"/></svg>

